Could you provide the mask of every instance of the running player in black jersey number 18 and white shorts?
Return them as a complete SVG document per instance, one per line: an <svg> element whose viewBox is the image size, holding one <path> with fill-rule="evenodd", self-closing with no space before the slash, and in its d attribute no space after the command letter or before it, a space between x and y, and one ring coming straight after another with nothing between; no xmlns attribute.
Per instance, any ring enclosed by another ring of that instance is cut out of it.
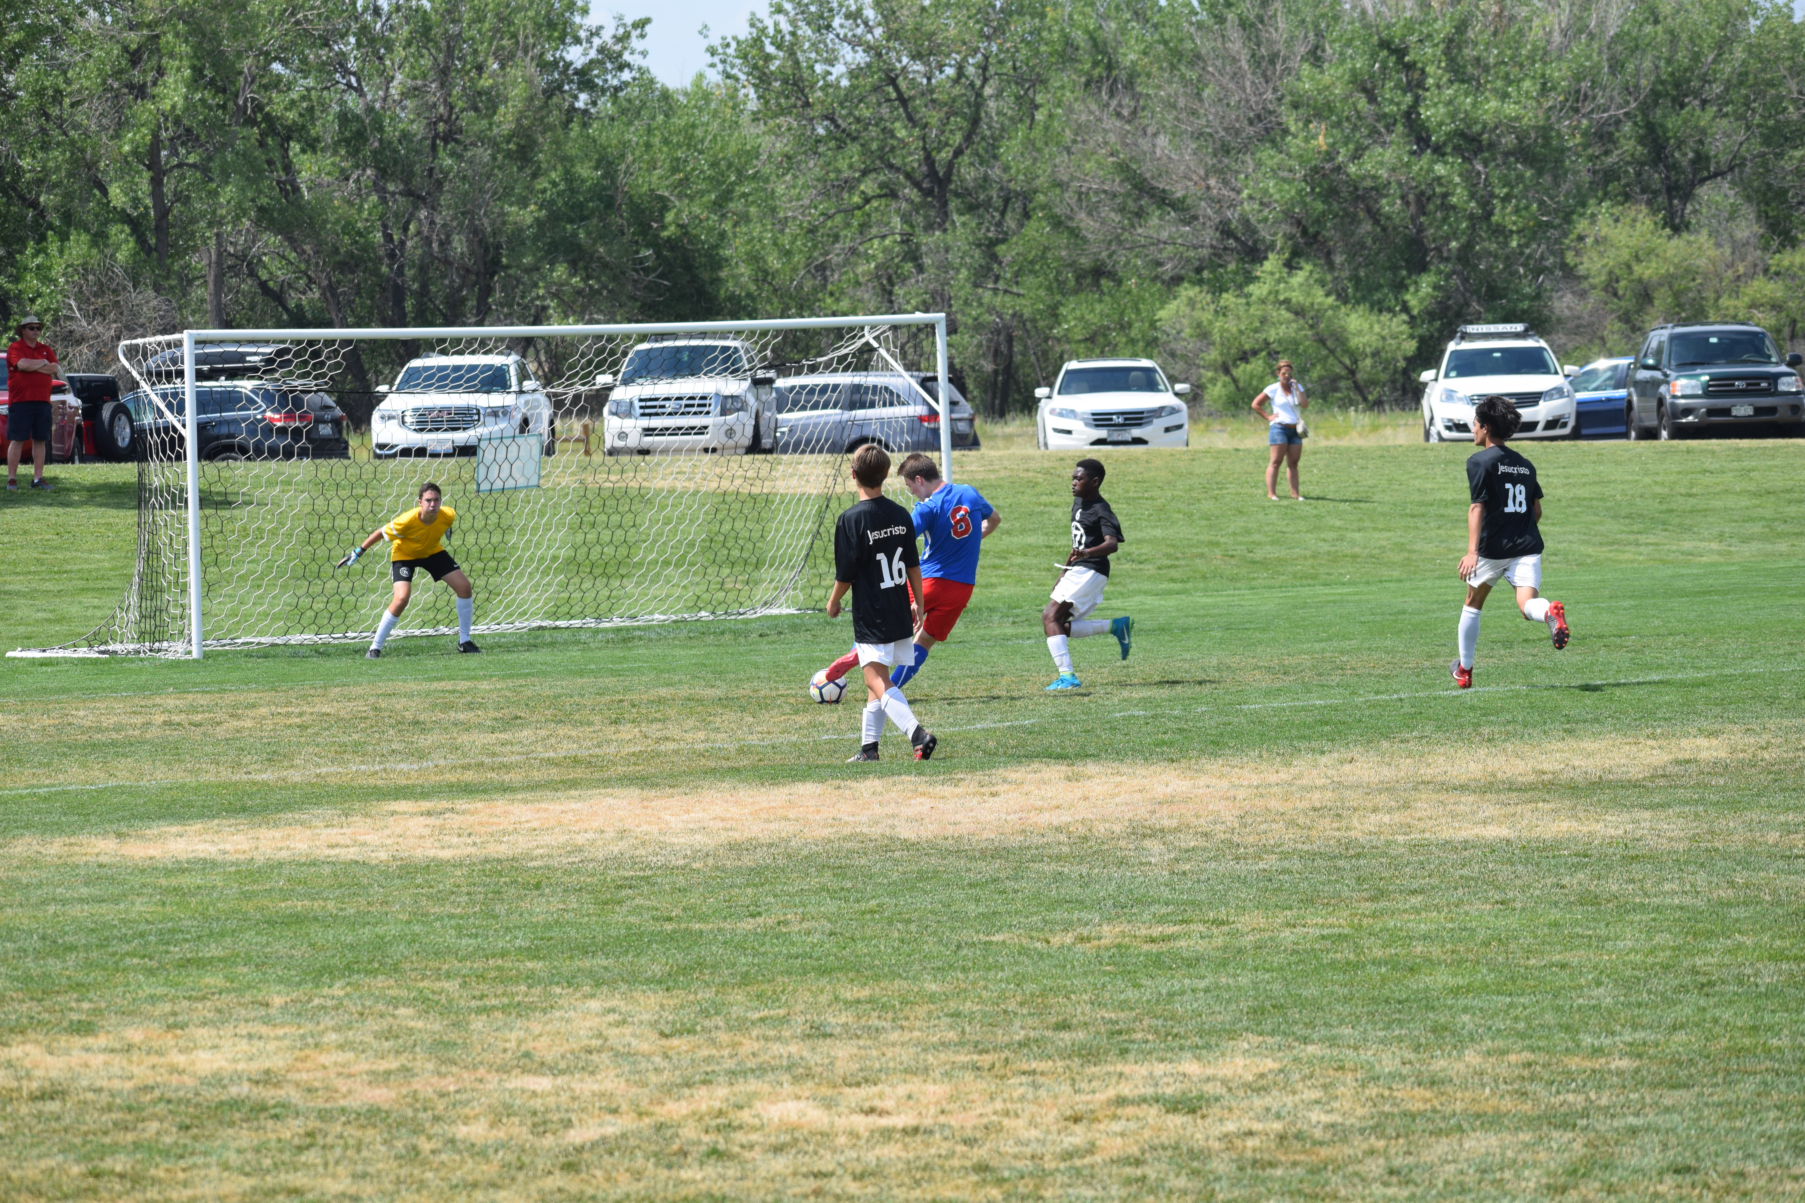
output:
<svg viewBox="0 0 1805 1203"><path fill-rule="evenodd" d="M1547 622L1554 649L1567 646L1567 608L1538 595L1541 588L1541 485L1536 465L1505 447L1522 417L1505 397L1486 397L1473 408L1473 442L1482 447L1467 456L1467 554L1460 579L1467 601L1460 610L1460 655L1448 671L1462 689L1473 687L1473 653L1478 649L1478 615L1495 581L1516 586L1516 604L1531 622Z"/></svg>

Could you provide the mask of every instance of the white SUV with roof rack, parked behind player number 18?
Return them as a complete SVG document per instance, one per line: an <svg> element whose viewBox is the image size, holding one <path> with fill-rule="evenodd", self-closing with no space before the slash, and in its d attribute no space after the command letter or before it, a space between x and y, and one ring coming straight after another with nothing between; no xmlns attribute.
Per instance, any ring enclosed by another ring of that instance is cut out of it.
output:
<svg viewBox="0 0 1805 1203"><path fill-rule="evenodd" d="M1473 402L1495 393L1523 415L1516 438L1579 438L1570 375L1579 368L1563 368L1525 325L1460 326L1442 366L1417 377L1422 442L1473 442Z"/></svg>

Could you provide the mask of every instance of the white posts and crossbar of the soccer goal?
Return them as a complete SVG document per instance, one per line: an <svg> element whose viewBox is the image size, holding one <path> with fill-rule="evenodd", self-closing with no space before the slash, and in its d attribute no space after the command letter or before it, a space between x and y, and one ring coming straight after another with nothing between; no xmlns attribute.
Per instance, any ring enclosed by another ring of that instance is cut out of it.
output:
<svg viewBox="0 0 1805 1203"><path fill-rule="evenodd" d="M188 566L188 655L200 660L206 640L206 597L202 575L200 545L200 438L197 431L195 404L195 354L209 343L283 343L283 341L321 341L321 343L372 343L372 341L435 341L435 339L540 339L540 337L641 337L641 335L709 335L736 332L776 332L776 330L852 330L859 326L931 326L935 343L935 377L940 381L937 393L946 399L951 393L948 381L946 350L946 314L875 314L852 317L773 317L762 321L675 321L675 323L610 323L610 325L567 325L567 326L365 326L365 328L292 328L292 330L184 330L182 348L182 395L186 431L186 566ZM121 344L121 359L125 359ZM879 352L883 354L883 352ZM888 359L888 355L884 355ZM893 366L901 370L901 364ZM915 391L940 413L940 462L942 476L953 480L953 418L951 409L930 395L921 384ZM173 418L175 415L166 413ZM97 655L97 649L56 647L34 651L13 651L7 655Z"/></svg>

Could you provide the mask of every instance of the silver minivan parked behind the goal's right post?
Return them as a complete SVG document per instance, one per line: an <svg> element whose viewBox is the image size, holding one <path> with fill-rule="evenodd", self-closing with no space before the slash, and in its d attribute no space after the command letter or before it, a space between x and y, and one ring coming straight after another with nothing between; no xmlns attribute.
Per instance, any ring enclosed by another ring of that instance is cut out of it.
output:
<svg viewBox="0 0 1805 1203"><path fill-rule="evenodd" d="M919 388L917 388L919 386ZM953 445L977 451L971 404L951 388ZM933 375L901 372L823 372L776 382L776 453L839 455L861 444L886 451L939 451L940 413Z"/></svg>

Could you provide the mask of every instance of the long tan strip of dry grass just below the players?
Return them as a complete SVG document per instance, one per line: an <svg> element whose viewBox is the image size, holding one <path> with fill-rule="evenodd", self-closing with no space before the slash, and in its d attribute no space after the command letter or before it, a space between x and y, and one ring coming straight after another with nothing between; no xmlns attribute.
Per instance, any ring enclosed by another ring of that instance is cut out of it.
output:
<svg viewBox="0 0 1805 1203"><path fill-rule="evenodd" d="M1561 741L1529 748L1395 745L1314 758L1063 765L888 777L874 788L565 790L504 801L393 801L280 821L218 819L114 835L14 839L9 857L60 860L563 859L769 840L998 839L1148 831L1244 842L1700 840L1801 846L1791 819L1726 828L1684 806L1599 801L1606 783L1708 788L1731 774L1796 772L1791 727L1720 736ZM1776 812L1778 813L1778 812Z"/></svg>

